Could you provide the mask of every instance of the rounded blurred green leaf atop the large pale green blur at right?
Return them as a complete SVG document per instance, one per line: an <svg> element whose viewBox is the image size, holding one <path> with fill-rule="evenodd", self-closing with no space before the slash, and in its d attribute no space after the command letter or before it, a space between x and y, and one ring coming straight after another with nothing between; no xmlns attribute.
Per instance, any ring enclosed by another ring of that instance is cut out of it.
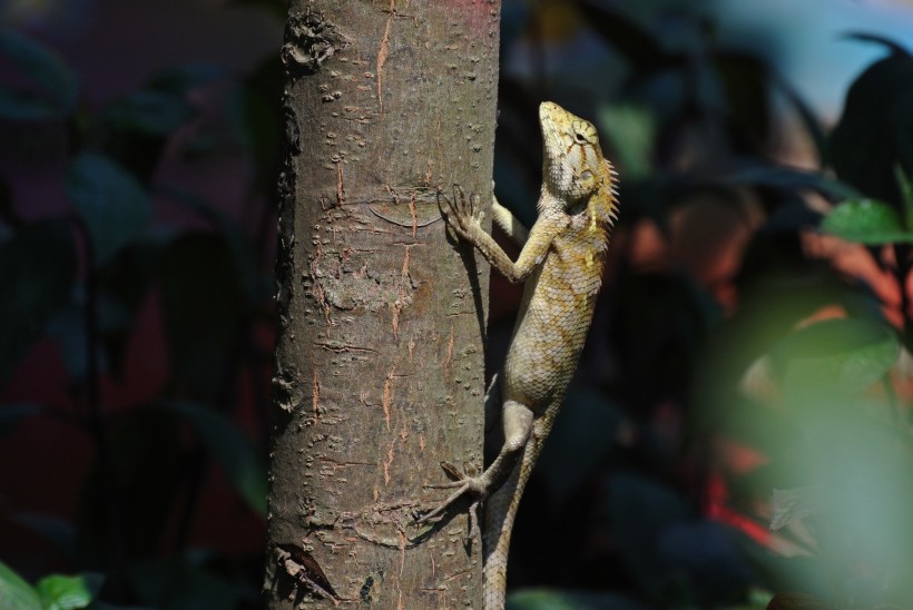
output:
<svg viewBox="0 0 913 610"><path fill-rule="evenodd" d="M825 319L782 340L772 352L786 395L819 400L863 392L897 360L900 342L887 326L862 318Z"/></svg>

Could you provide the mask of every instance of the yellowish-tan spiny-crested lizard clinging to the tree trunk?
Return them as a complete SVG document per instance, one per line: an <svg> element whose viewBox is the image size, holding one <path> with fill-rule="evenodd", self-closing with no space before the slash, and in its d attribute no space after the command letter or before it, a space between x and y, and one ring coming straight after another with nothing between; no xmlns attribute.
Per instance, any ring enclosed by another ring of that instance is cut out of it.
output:
<svg viewBox="0 0 913 610"><path fill-rule="evenodd" d="M592 124L549 101L539 107L539 124L543 160L536 223L527 233L497 199L492 203L494 222L522 242L516 262L485 233L475 197L467 201L458 190L452 201L444 198L449 209L442 209L461 242L474 246L511 283L524 283L507 358L485 394L485 420L500 410L504 443L477 476L442 463L455 480L434 486L455 491L420 520L433 519L470 494L474 529L475 510L483 502L487 610L504 606L508 547L520 496L577 368L619 209L617 174Z"/></svg>

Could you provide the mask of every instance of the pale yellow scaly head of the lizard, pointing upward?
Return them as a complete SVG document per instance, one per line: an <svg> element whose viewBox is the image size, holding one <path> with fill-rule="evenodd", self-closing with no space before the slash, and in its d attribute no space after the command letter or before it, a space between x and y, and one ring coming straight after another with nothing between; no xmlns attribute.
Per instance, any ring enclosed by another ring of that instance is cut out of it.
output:
<svg viewBox="0 0 913 610"><path fill-rule="evenodd" d="M591 122L551 101L539 106L542 129L542 188L568 206L596 193L606 179L599 135ZM611 185L608 185L611 186Z"/></svg>

